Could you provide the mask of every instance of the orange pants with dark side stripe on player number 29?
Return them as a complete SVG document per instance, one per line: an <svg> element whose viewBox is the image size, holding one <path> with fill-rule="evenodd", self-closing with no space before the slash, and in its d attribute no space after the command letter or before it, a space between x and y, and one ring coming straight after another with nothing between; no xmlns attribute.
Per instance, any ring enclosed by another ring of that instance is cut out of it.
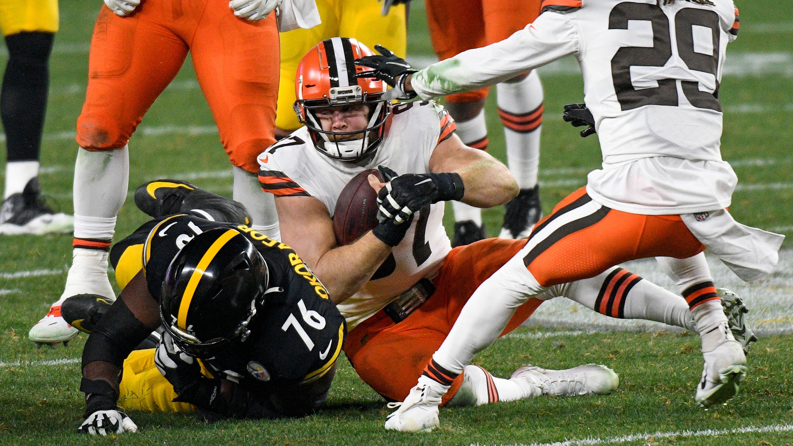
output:
<svg viewBox="0 0 793 446"><path fill-rule="evenodd" d="M586 187L578 189L534 226L528 238L528 245L534 247L523 263L542 286L588 279L624 261L686 258L705 250L680 215L631 214L603 206L595 214L569 219L590 201ZM565 218L569 222L555 231L546 229Z"/></svg>

